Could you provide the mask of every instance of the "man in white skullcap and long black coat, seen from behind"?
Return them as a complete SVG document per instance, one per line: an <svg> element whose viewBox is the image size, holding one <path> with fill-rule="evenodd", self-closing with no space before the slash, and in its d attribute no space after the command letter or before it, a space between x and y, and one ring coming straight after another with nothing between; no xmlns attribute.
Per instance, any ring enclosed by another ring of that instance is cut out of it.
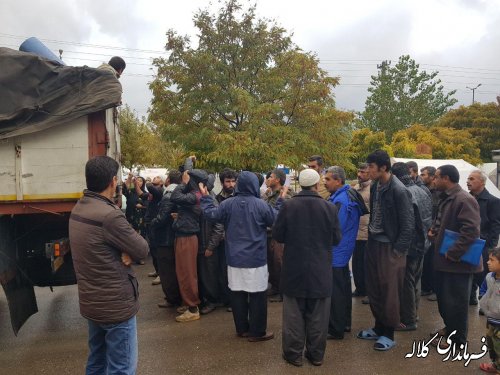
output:
<svg viewBox="0 0 500 375"><path fill-rule="evenodd" d="M286 201L273 227L273 238L284 243L281 288L283 292L283 358L302 366L306 358L323 363L332 294L332 246L340 242L335 205L317 193L319 174L300 172L302 191Z"/></svg>

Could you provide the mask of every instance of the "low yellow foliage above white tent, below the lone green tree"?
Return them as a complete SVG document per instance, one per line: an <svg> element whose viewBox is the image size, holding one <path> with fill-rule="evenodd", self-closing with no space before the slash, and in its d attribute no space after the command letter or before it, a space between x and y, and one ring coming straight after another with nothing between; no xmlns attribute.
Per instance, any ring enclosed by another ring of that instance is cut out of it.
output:
<svg viewBox="0 0 500 375"><path fill-rule="evenodd" d="M418 145L427 145L431 154L417 153ZM474 165L481 162L478 142L468 130L417 124L396 132L391 148L397 157L464 159Z"/></svg>

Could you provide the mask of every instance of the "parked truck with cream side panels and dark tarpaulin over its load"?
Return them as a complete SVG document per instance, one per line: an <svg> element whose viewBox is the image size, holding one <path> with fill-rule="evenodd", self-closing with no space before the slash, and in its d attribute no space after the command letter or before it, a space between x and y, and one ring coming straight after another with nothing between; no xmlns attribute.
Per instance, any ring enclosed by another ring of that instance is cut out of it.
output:
<svg viewBox="0 0 500 375"><path fill-rule="evenodd" d="M0 48L0 92L0 283L17 335L35 287L76 283L69 216L89 158L120 161L122 89L110 71Z"/></svg>

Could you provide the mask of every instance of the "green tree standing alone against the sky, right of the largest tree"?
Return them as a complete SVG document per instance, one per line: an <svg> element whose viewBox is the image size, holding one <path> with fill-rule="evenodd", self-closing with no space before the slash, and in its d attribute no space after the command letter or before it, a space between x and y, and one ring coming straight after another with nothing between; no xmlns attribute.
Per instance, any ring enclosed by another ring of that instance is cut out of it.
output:
<svg viewBox="0 0 500 375"><path fill-rule="evenodd" d="M438 72L421 70L405 55L396 65L383 61L371 77L362 121L374 131L384 131L388 140L398 130L413 124L431 125L457 100L455 90L446 93Z"/></svg>

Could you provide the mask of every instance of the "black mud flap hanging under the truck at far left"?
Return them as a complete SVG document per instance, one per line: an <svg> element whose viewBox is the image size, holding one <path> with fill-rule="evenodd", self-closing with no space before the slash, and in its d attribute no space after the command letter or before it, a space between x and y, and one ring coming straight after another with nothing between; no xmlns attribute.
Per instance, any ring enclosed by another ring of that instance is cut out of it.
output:
<svg viewBox="0 0 500 375"><path fill-rule="evenodd" d="M12 330L17 336L28 318L38 312L35 290L28 282L20 282L19 277L15 277L2 286L9 303Z"/></svg>

